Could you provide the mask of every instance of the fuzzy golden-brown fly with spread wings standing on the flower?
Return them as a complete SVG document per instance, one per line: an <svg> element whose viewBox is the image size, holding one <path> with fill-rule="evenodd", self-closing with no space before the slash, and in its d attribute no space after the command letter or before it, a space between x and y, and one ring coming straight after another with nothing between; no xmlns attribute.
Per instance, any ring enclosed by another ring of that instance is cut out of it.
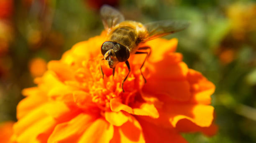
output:
<svg viewBox="0 0 256 143"><path fill-rule="evenodd" d="M174 20L162 20L143 25L140 22L124 20L123 15L118 10L108 5L101 7L100 15L107 31L107 40L101 46L101 53L104 56L101 60L106 60L109 67L113 69L113 76L115 66L119 62L125 62L128 67L129 72L123 79L122 89L123 83L131 72L128 62L130 55L146 54L146 58L141 65L142 68L151 53L150 47L139 47L139 44L184 30L189 25L188 22ZM104 78L101 66L100 69ZM142 72L141 75L143 76ZM143 79L146 83L144 76Z"/></svg>

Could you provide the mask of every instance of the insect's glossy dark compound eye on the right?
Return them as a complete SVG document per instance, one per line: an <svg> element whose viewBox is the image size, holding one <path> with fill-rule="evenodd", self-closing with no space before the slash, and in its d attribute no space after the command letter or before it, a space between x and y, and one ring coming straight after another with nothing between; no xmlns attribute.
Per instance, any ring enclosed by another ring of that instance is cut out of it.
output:
<svg viewBox="0 0 256 143"><path fill-rule="evenodd" d="M116 43L113 50L119 62L125 62L130 57L129 49L122 44Z"/></svg>

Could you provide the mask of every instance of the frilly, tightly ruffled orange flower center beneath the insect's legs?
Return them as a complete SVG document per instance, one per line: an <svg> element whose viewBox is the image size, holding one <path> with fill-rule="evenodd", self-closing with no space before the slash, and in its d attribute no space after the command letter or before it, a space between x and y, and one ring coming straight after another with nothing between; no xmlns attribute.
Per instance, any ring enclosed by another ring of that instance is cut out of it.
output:
<svg viewBox="0 0 256 143"><path fill-rule="evenodd" d="M97 58L100 59L100 58ZM104 79L100 70L100 60L83 61L82 67L77 69L76 78L83 85L83 90L88 93L92 104L104 111L110 110L111 99L118 98L123 104L133 102L136 92L139 90L140 71L132 70L125 81L122 90L122 81L128 74L128 69L123 62L115 68L115 75L112 75L113 69L102 62ZM136 74L135 74L136 73Z"/></svg>

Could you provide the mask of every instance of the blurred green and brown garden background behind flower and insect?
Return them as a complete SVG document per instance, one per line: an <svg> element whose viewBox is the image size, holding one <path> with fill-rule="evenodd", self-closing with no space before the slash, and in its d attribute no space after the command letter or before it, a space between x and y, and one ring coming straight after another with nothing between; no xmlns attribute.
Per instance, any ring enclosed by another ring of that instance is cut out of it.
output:
<svg viewBox="0 0 256 143"><path fill-rule="evenodd" d="M0 122L15 121L21 90L79 41L100 35L99 9L117 7L142 23L188 20L177 52L216 85L217 135L183 134L191 143L256 143L256 1L0 0Z"/></svg>

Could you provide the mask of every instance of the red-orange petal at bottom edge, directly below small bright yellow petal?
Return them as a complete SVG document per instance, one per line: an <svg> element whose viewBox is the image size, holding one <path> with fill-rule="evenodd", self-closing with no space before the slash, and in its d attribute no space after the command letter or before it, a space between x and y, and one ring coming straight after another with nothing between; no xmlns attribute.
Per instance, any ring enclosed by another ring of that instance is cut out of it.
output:
<svg viewBox="0 0 256 143"><path fill-rule="evenodd" d="M115 126L114 136L110 143L145 143L141 125L132 116L120 127Z"/></svg>

